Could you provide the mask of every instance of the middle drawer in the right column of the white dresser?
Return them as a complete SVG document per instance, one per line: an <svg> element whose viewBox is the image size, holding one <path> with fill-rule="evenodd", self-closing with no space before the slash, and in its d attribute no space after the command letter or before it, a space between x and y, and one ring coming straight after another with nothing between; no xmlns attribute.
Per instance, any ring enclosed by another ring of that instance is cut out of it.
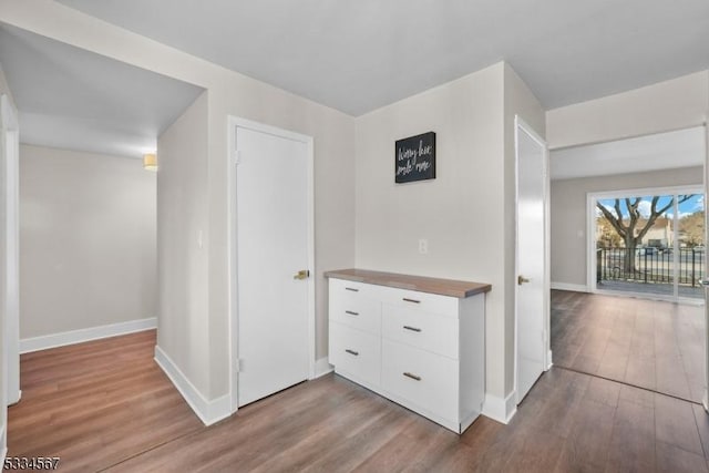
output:
<svg viewBox="0 0 709 473"><path fill-rule="evenodd" d="M408 307L382 307L382 336L387 339L411 345L458 359L458 320L412 310Z"/></svg>

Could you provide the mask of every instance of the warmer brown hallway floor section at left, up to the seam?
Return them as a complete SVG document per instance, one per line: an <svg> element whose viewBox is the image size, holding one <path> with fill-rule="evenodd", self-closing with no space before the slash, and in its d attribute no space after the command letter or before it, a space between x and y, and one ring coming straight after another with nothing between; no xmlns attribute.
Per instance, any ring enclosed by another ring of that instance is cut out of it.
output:
<svg viewBox="0 0 709 473"><path fill-rule="evenodd" d="M60 471L116 464L203 424L153 361L155 331L22 354L9 456L61 456Z"/></svg>

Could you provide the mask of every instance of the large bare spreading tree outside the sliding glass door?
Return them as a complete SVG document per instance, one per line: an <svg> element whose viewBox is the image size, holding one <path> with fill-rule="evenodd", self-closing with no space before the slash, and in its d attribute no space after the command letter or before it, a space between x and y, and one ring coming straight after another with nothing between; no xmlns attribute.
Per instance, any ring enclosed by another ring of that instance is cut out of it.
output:
<svg viewBox="0 0 709 473"><path fill-rule="evenodd" d="M679 195L677 196L677 203L681 204L691 197L693 197L693 194ZM596 203L596 207L598 207L603 216L608 220L625 243L626 250L623 265L627 273L637 271L635 267L635 249L640 245L643 238L647 235L650 228L653 228L657 218L675 205L675 197L672 197L667 204L658 207L659 199L660 196L653 196L650 200L649 215L643 215L640 213L640 202L643 202L641 197L616 198L613 206L614 212L600 204L600 202ZM621 202L625 204L626 212L621 208Z"/></svg>

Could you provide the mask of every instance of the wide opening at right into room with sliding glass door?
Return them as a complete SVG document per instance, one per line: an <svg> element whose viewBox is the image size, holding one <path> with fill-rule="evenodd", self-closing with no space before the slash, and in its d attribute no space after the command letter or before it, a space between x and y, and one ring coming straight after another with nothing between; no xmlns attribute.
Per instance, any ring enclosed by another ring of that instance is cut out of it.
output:
<svg viewBox="0 0 709 473"><path fill-rule="evenodd" d="M555 263L569 282L552 292L557 367L699 407L705 141L705 127L693 127L553 155L568 166L552 191L564 216ZM585 174L569 174L572 165Z"/></svg>

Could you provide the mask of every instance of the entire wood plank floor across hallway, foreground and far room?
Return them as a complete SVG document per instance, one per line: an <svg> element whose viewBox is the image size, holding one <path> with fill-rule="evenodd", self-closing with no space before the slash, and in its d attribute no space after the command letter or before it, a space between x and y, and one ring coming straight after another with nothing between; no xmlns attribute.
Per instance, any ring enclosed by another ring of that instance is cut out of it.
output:
<svg viewBox="0 0 709 473"><path fill-rule="evenodd" d="M693 403L553 368L508 425L456 435L328 374L204 428L152 360L154 332L22 357L9 455L64 472L709 472Z"/></svg>

